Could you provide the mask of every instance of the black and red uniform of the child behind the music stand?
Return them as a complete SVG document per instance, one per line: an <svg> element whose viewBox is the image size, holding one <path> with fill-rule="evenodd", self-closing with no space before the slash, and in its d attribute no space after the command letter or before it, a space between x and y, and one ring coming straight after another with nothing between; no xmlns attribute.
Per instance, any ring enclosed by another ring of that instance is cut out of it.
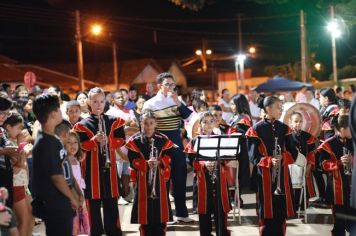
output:
<svg viewBox="0 0 356 236"><path fill-rule="evenodd" d="M218 181L215 181L215 184L213 184L211 175L209 174L209 171L205 166L205 161L198 161L195 159L197 154L194 150L194 145L197 140L198 136L192 139L190 143L185 147L184 152L188 154L188 159L190 161L190 164L193 166L194 172L197 177L197 211L199 214L200 235L211 235L211 214L214 214L216 232L218 232L218 225L222 224L224 232L223 235L230 235L230 231L227 229L227 214L231 210L231 205L227 183L227 172L225 166L226 162L221 162L220 167L217 167L220 168L220 176L217 177L220 179L220 202L217 202L216 189ZM220 209L220 214L218 212L218 209ZM219 219L218 215L220 215L222 218Z"/></svg>

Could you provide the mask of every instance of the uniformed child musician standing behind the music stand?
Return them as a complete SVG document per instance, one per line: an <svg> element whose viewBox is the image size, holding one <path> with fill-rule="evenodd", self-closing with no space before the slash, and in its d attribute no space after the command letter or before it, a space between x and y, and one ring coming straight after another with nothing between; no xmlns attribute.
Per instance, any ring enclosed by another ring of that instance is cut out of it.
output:
<svg viewBox="0 0 356 236"><path fill-rule="evenodd" d="M214 135L213 129L215 126L215 118L211 112L206 111L200 114L200 135ZM198 161L196 158L196 151L194 145L198 140L198 136L193 138L190 143L185 147L185 152L188 154L190 164L193 166L197 176L198 183L198 214L199 214L199 230L200 235L206 236L212 233L212 219L211 215L214 215L215 230L218 234L218 225L222 224L223 235L230 235L230 231L227 229L227 214L231 210L229 201L229 192L227 185L227 177L225 170L225 162L221 163L220 167L216 166L215 161ZM216 176L216 168L220 168L220 176ZM220 193L221 202L217 202L216 199L216 178L220 178ZM218 207L217 204L220 204ZM220 213L218 212L220 209ZM222 216L219 219L218 216ZM219 235L222 236L222 235Z"/></svg>

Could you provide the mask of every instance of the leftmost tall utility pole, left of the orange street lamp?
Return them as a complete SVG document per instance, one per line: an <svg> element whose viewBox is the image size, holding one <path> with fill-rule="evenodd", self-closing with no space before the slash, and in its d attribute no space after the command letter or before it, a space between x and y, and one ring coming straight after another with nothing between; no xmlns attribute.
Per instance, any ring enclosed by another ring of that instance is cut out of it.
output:
<svg viewBox="0 0 356 236"><path fill-rule="evenodd" d="M77 44L77 66L78 66L78 79L80 90L85 90L84 85L84 63L83 63L83 47L82 47L82 35L80 31L80 13L79 10L75 11L75 25L76 25L76 44Z"/></svg>

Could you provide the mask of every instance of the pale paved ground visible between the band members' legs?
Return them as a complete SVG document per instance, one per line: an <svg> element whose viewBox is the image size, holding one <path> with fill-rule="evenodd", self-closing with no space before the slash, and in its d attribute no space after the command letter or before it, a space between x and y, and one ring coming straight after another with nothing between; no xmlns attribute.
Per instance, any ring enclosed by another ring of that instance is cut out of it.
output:
<svg viewBox="0 0 356 236"><path fill-rule="evenodd" d="M188 185L191 183L191 176L188 177ZM255 207L255 197L253 194L246 194L242 196L244 200L244 209L241 211L242 224L238 224L237 218L233 220L232 212L229 214L228 224L232 235L258 235L257 216ZM188 208L191 209L191 193L188 193ZM172 202L172 207L174 204ZM330 235L331 230L331 211L329 209L308 209L308 224L302 222L301 219L288 220L287 235ZM131 205L120 206L120 218L124 235L139 235L138 225L130 224ZM198 220L198 215L190 215L193 219ZM43 224L35 228L35 232L40 232L44 236ZM193 224L179 224L168 227L168 236L172 235L199 235L199 226L197 223Z"/></svg>

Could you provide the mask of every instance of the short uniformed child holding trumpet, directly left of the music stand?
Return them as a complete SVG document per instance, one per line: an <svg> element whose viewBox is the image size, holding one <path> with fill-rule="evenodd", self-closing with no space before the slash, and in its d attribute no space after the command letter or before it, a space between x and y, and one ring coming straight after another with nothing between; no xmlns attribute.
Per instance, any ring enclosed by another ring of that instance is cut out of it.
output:
<svg viewBox="0 0 356 236"><path fill-rule="evenodd" d="M126 144L135 181L131 223L141 224L140 235L166 234L166 223L172 221L169 202L170 161L175 145L156 132L156 118L146 110L140 117L141 133L134 134Z"/></svg>

